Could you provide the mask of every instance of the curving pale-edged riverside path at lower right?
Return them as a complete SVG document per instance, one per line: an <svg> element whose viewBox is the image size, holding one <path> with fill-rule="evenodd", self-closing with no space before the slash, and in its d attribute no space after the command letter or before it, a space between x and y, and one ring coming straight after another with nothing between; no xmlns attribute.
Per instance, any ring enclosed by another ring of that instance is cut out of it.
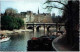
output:
<svg viewBox="0 0 80 52"><path fill-rule="evenodd" d="M63 38L64 35L60 35L52 41L52 46L56 51L75 51L73 46L66 44L66 39Z"/></svg>

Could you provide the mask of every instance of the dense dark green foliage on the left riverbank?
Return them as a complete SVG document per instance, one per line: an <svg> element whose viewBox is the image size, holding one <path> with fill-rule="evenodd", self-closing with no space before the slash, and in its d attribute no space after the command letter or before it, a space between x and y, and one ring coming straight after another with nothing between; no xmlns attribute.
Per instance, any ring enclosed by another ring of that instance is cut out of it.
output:
<svg viewBox="0 0 80 52"><path fill-rule="evenodd" d="M1 29L19 29L23 25L24 21L21 18L14 18L12 16L1 16Z"/></svg>

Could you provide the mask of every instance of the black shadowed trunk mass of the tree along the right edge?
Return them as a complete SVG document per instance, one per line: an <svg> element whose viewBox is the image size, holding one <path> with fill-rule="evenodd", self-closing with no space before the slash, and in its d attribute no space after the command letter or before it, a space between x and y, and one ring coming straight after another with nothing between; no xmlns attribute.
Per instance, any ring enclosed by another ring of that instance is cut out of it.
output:
<svg viewBox="0 0 80 52"><path fill-rule="evenodd" d="M72 44L75 49L79 50L79 1L68 2L67 20L65 24L68 43ZM65 15L66 15L65 14Z"/></svg>

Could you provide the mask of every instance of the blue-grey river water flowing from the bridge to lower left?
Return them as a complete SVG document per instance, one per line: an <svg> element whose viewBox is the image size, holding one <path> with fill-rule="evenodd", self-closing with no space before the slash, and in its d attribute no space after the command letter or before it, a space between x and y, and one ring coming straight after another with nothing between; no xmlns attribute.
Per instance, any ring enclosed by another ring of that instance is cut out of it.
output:
<svg viewBox="0 0 80 52"><path fill-rule="evenodd" d="M50 31L51 32L51 31ZM40 30L39 32L22 32L21 34L12 35L11 39L0 43L0 51L27 51L27 41L32 37L40 37L49 34Z"/></svg>

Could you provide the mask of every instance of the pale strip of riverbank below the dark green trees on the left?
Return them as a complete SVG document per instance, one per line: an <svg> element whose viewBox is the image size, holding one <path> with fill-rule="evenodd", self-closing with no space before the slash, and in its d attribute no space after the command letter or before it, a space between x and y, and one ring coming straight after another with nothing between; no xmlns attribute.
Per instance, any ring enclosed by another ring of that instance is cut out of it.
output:
<svg viewBox="0 0 80 52"><path fill-rule="evenodd" d="M31 29L19 29L19 30L0 30L0 34L12 34L12 33L21 33L21 32L26 32L26 31L33 31Z"/></svg>

